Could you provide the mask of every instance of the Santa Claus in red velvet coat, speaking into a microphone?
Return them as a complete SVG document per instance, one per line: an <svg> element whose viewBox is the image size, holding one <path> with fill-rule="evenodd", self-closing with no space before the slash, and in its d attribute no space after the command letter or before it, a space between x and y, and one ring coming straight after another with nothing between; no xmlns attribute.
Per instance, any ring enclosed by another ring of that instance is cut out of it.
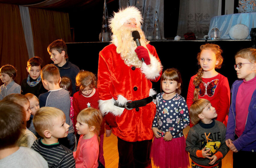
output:
<svg viewBox="0 0 256 168"><path fill-rule="evenodd" d="M117 136L119 167L151 167L151 127L156 113L151 81L160 79L162 65L155 47L145 39L136 7L119 10L109 22L111 44L99 53L99 109ZM139 32L141 46L136 46L133 31Z"/></svg>

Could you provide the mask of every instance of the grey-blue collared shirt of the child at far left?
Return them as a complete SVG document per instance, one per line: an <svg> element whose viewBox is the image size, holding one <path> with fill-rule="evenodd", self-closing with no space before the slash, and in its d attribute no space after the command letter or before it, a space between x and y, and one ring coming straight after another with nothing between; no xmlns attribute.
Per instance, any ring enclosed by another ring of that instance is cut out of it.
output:
<svg viewBox="0 0 256 168"><path fill-rule="evenodd" d="M14 80L11 81L11 83L9 83L8 85L6 85L6 83L4 83L0 87L0 100L2 100L5 96L10 95L12 93L20 94L20 91L21 91L20 85L15 83Z"/></svg>

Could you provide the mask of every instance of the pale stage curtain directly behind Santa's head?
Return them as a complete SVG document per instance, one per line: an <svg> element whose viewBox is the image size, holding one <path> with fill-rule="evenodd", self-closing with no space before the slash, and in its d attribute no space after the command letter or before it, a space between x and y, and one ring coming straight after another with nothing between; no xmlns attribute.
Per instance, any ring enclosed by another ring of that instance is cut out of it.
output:
<svg viewBox="0 0 256 168"><path fill-rule="evenodd" d="M126 7L127 2L128 0L119 0L119 7ZM146 38L153 36L155 11L157 10L161 35L162 39L164 39L164 0L130 0L130 5L138 7L143 14L142 30Z"/></svg>

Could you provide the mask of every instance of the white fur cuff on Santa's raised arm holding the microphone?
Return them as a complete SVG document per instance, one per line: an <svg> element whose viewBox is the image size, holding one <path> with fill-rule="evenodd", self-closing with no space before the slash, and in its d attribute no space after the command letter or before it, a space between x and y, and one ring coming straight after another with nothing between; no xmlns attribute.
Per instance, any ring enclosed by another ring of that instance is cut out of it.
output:
<svg viewBox="0 0 256 168"><path fill-rule="evenodd" d="M150 66L145 62L142 63L140 68L141 72L145 74L149 80L154 80L160 76L160 72L163 69L162 64L152 54L149 54Z"/></svg>

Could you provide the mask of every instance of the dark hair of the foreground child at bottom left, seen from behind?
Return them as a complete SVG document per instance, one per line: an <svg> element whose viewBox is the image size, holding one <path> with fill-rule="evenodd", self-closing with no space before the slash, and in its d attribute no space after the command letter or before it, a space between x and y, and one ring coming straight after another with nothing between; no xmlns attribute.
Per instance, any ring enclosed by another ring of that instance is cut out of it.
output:
<svg viewBox="0 0 256 168"><path fill-rule="evenodd" d="M13 101L0 101L0 148L14 145L20 136L24 108Z"/></svg>

